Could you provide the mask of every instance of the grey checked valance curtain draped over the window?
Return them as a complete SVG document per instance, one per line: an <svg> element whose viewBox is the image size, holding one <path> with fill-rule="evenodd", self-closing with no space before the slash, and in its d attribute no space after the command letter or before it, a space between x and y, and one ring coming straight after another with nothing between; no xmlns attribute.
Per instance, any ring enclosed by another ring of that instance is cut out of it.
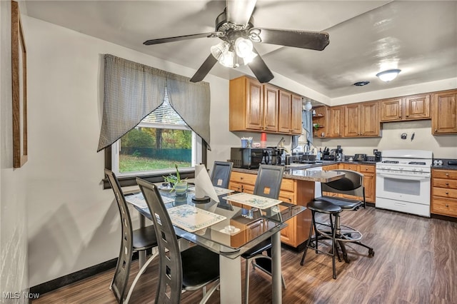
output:
<svg viewBox="0 0 457 304"><path fill-rule="evenodd" d="M209 147L209 83L106 54L104 107L97 152L111 146L158 108L165 91L174 110Z"/></svg>

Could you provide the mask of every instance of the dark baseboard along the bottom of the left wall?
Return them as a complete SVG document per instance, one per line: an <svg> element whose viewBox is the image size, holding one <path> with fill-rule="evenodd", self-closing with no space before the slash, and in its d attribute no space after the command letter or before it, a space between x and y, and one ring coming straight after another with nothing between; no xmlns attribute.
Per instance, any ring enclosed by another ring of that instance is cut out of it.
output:
<svg viewBox="0 0 457 304"><path fill-rule="evenodd" d="M132 255L132 259L138 259L138 253L135 252ZM58 288L70 285L72 283L76 283L79 280L84 280L85 278L89 278L92 275L97 275L99 273L103 273L106 270L114 269L116 267L116 263L117 258L114 258L112 260L107 260L106 262L91 266L89 268L76 271L76 273L70 273L69 275L64 275L60 278L56 278L54 280L41 283L39 285L31 287L30 293L39 293L40 295L43 295L44 293L49 293L52 290L56 290Z"/></svg>

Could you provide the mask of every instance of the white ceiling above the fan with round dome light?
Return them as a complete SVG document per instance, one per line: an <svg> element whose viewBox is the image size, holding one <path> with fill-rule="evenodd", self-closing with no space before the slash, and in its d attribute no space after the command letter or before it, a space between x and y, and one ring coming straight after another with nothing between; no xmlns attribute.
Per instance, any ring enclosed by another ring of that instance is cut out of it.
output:
<svg viewBox="0 0 457 304"><path fill-rule="evenodd" d="M217 38L144 46L214 31L225 1L25 1L22 14L198 69ZM457 1L262 1L254 26L327 31L323 51L256 44L273 71L330 98L457 77ZM401 69L389 83L379 71ZM251 74L216 64L223 78ZM353 86L370 81L367 86Z"/></svg>

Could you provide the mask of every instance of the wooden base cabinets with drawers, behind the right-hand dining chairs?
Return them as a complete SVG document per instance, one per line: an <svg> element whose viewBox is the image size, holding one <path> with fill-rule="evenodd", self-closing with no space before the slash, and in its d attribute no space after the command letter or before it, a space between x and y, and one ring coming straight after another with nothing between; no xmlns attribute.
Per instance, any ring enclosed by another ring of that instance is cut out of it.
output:
<svg viewBox="0 0 457 304"><path fill-rule="evenodd" d="M230 176L229 188L234 191L253 193L256 184L257 172L241 173L232 171ZM306 204L314 198L314 183L309 181L293 180L283 178L279 199L286 203L293 203L300 206ZM240 204L232 203L233 206L251 208ZM309 228L311 226L311 213L306 210L298 216L286 221L288 226L281 230L281 242L298 247L308 239Z"/></svg>

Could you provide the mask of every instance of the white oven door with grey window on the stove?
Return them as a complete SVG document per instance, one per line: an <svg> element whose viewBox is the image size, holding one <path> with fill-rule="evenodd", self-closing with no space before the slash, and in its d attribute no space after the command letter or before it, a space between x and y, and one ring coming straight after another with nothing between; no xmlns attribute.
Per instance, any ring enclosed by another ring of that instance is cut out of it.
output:
<svg viewBox="0 0 457 304"><path fill-rule="evenodd" d="M430 173L376 171L376 198L430 205Z"/></svg>

